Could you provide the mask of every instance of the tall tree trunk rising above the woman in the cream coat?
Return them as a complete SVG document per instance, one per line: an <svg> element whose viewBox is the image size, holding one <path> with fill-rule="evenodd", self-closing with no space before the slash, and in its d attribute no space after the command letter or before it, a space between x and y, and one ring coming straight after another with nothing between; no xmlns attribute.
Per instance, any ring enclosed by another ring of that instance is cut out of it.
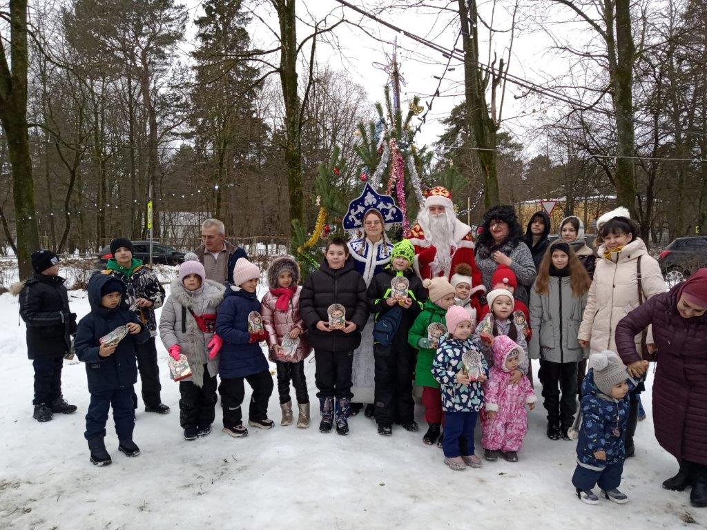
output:
<svg viewBox="0 0 707 530"><path fill-rule="evenodd" d="M636 218L636 139L633 132L633 57L631 35L631 2L616 0L616 68L614 80L614 110L617 122L617 205L626 206ZM609 26L607 25L607 33Z"/></svg>

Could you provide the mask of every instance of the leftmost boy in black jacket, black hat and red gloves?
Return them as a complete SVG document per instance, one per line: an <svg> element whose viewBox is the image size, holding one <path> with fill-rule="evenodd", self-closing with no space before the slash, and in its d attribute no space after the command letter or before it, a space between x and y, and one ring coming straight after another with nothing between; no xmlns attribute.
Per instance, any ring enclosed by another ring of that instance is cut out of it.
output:
<svg viewBox="0 0 707 530"><path fill-rule="evenodd" d="M35 370L33 418L42 423L54 413L76 412L62 396L62 365L76 333L76 313L69 311L57 254L37 250L31 259L34 276L13 285L11 293L20 296L20 316L27 325L27 356Z"/></svg>

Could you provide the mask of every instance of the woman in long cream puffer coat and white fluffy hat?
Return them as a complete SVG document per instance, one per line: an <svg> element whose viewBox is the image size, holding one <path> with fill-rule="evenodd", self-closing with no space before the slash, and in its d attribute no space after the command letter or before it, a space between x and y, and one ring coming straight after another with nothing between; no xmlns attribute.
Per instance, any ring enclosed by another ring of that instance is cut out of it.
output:
<svg viewBox="0 0 707 530"><path fill-rule="evenodd" d="M617 351L614 334L619 321L653 295L665 292L665 281L658 261L648 255L638 235L640 228L631 219L614 217L602 226L603 243L597 250L597 264L589 288L587 307L580 324L578 340L591 352ZM638 270L641 270L639 296ZM641 300L642 299L642 300ZM641 354L641 334L636 335L636 351ZM653 351L650 327L645 338L648 351ZM638 396L643 382L631 392L629 426L626 430L626 457L633 456L633 432L638 417Z"/></svg>

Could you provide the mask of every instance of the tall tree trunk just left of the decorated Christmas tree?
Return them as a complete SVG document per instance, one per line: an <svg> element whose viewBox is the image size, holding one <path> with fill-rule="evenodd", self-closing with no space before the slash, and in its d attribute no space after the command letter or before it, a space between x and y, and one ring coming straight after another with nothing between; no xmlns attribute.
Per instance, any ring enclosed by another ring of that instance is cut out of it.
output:
<svg viewBox="0 0 707 530"><path fill-rule="evenodd" d="M290 221L304 218L302 177L302 121L297 87L297 33L295 0L277 2L280 22L280 82L285 104L285 163L290 196ZM288 233L290 225L288 223Z"/></svg>

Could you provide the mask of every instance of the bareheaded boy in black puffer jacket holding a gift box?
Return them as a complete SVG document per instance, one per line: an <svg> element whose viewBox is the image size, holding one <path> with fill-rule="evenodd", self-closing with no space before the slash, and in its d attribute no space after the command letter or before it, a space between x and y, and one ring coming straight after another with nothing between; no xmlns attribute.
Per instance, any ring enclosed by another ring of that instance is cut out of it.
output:
<svg viewBox="0 0 707 530"><path fill-rule="evenodd" d="M344 329L329 328L327 309L332 304L341 304L346 310ZM315 382L322 413L319 430L332 430L336 399L337 433L346 435L354 397L351 393L354 350L361 344L361 330L368 320L368 302L366 282L354 269L354 259L342 237L329 238L325 260L305 281L300 295L300 317L307 325L308 341L317 363Z"/></svg>

